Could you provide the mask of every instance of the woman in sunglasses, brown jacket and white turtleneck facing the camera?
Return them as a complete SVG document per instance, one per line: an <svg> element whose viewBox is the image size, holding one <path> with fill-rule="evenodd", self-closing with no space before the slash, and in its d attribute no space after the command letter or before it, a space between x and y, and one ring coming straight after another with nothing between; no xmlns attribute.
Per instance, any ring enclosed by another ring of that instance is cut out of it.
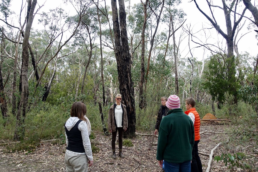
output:
<svg viewBox="0 0 258 172"><path fill-rule="evenodd" d="M118 131L118 142L119 142L119 156L121 158L124 158L125 156L122 153L122 136L123 131L126 131L128 128L128 119L127 119L127 112L126 112L126 106L121 103L122 96L120 94L117 94L115 97L116 103L114 103L109 108L108 113L108 131L112 133L112 140L111 140L111 146L113 155L112 158L116 159L116 133Z"/></svg>

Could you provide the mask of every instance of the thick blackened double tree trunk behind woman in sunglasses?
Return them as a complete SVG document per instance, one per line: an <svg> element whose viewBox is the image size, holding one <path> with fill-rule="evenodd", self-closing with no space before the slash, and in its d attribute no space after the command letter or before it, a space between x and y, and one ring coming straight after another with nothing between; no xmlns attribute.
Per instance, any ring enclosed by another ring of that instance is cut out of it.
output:
<svg viewBox="0 0 258 172"><path fill-rule="evenodd" d="M126 106L128 116L128 129L125 132L127 137L135 136L135 103L134 103L134 89L131 77L131 57L128 46L128 37L126 30L126 13L124 0L119 2L119 19L117 13L116 0L111 1L113 14L113 30L115 36L115 54L117 62L119 90L122 95L122 103ZM120 23L119 23L120 21ZM120 27L119 27L120 24Z"/></svg>

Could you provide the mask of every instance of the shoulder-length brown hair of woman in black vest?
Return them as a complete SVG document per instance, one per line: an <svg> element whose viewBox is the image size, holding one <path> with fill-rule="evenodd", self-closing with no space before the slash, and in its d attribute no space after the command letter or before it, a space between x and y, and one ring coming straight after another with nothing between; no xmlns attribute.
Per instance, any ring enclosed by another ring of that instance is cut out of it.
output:
<svg viewBox="0 0 258 172"><path fill-rule="evenodd" d="M72 103L72 108L70 111L71 117L78 117L81 120L85 120L84 115L87 112L86 105L81 101L76 101Z"/></svg>

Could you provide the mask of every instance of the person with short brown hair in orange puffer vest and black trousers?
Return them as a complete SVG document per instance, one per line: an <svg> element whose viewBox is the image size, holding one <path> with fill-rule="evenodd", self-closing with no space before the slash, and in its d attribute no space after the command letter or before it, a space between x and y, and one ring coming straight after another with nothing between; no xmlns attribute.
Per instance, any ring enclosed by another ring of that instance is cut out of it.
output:
<svg viewBox="0 0 258 172"><path fill-rule="evenodd" d="M191 172L202 172L201 159L198 154L198 143L200 142L200 116L195 109L195 100L193 98L186 99L186 111L185 114L188 115L194 124L195 130L195 143L192 150L192 162L191 162Z"/></svg>

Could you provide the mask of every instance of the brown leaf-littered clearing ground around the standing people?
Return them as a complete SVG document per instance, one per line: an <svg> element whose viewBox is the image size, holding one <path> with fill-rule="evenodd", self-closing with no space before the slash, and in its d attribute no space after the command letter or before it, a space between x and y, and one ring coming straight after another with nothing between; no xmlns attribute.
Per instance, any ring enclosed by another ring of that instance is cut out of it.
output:
<svg viewBox="0 0 258 172"><path fill-rule="evenodd" d="M198 144L199 152L210 154L211 150L220 142L221 144L214 150L214 156L221 156L221 153L226 153L224 144L228 139L228 125L202 124L200 132L206 130L216 133L201 134L201 140ZM152 132L151 134L153 134ZM218 134L222 133L222 134ZM149 134L149 133L142 133ZM95 132L96 138L93 142L100 149L98 153L93 154L94 165L89 168L89 172L119 172L119 171L143 171L143 172L161 172L156 160L157 146L152 146L149 150L150 143L157 143L157 138L151 136L136 136L131 141L133 147L123 147L125 158L112 159L111 154L111 136L105 136L100 132ZM237 139L237 137L236 137ZM0 141L2 143L3 141ZM118 145L116 146L118 155ZM253 171L258 168L258 145L253 142L246 142L242 145L237 145L229 153L242 152L247 155L244 161L251 165ZM7 152L4 146L0 146L0 171L1 172L61 172L65 171L64 155L66 146L53 145L50 142L42 143L34 152L27 153L25 151ZM27 154L27 155L26 155ZM209 162L209 156L200 155L203 165L203 171L206 171ZM210 171L229 171L225 167L223 161L212 161ZM243 171L240 168L234 167L234 171ZM250 170L249 170L250 171Z"/></svg>

